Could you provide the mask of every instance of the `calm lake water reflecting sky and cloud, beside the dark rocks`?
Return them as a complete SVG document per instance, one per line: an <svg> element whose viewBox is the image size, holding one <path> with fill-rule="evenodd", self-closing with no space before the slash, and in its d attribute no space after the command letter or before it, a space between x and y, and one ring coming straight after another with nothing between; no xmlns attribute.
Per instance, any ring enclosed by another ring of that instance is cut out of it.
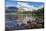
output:
<svg viewBox="0 0 46 31"><path fill-rule="evenodd" d="M5 15L6 16L6 27L8 29L26 29L23 25L27 24L27 21L32 21L31 15Z"/></svg>

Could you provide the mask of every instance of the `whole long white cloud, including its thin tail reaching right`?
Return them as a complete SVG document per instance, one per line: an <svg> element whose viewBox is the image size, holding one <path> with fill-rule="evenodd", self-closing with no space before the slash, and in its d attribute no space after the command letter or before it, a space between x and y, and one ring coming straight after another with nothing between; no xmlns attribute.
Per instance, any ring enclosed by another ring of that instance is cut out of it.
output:
<svg viewBox="0 0 46 31"><path fill-rule="evenodd" d="M17 6L18 8L23 8L25 9L25 11L32 11L32 10L37 10L43 7L43 5L41 5L40 7L34 7L33 5L29 5L28 3L24 3L24 2L17 2Z"/></svg>

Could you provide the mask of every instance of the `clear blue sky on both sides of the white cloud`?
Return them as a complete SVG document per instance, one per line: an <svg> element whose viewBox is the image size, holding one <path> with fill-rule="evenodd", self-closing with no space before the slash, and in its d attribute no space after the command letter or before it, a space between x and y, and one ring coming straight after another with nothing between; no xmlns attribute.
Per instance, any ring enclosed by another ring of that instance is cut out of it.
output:
<svg viewBox="0 0 46 31"><path fill-rule="evenodd" d="M43 5L41 2L27 2L29 5L33 5L35 7L39 7ZM16 1L6 1L6 5L15 6L17 4Z"/></svg>

